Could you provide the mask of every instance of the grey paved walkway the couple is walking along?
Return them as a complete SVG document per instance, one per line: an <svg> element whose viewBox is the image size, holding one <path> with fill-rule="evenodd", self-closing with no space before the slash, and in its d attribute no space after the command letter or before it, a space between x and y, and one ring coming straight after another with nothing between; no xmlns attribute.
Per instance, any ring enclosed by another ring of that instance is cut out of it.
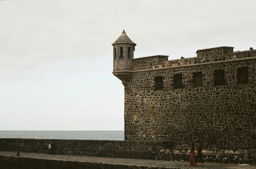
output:
<svg viewBox="0 0 256 169"><path fill-rule="evenodd" d="M16 152L0 151L0 156L16 156ZM42 154L42 153L26 153L21 152L21 157L47 159L47 160L63 160L63 161L78 161L91 163L109 163L123 164L149 167L166 167L166 168L201 168L201 169L256 169L253 165L238 165L238 164L217 164L204 163L203 166L199 163L198 166L188 166L188 162L173 162L173 161L157 161L157 160L141 160L141 159L124 159L124 158L107 158L107 157L90 157L90 156L70 156L57 154ZM18 157L17 157L18 158Z"/></svg>

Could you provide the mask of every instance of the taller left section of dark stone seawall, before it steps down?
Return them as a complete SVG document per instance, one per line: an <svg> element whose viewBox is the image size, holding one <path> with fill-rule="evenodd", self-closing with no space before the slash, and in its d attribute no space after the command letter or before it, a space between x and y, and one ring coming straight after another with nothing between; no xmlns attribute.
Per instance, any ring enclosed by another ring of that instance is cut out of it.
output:
<svg viewBox="0 0 256 169"><path fill-rule="evenodd" d="M51 144L51 149L48 149ZM0 139L0 151L156 160L168 141Z"/></svg>

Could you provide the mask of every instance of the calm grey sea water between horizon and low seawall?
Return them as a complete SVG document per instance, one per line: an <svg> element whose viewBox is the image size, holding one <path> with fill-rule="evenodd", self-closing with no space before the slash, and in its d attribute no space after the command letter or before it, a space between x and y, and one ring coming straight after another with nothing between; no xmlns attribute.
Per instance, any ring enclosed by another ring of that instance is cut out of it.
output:
<svg viewBox="0 0 256 169"><path fill-rule="evenodd" d="M124 140L124 131L7 131L0 138Z"/></svg>

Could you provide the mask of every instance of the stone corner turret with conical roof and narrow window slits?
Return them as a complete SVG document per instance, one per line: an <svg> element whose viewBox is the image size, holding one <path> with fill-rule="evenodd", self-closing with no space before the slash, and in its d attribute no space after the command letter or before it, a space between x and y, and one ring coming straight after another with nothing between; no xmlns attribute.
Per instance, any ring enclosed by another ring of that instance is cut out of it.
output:
<svg viewBox="0 0 256 169"><path fill-rule="evenodd" d="M112 43L113 45L113 75L125 86L126 81L133 75L133 52L136 44L130 40L123 30L121 36Z"/></svg>

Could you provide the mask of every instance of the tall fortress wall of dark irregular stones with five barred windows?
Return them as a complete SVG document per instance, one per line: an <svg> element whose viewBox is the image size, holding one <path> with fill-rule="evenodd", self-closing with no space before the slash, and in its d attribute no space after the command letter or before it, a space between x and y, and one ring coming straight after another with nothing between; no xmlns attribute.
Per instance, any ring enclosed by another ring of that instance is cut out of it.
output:
<svg viewBox="0 0 256 169"><path fill-rule="evenodd" d="M201 140L203 148L256 148L256 50L233 47L197 51L197 57L168 61L168 56L133 59L125 85L125 139L168 140L175 148ZM248 84L237 83L237 68L248 67ZM224 70L225 85L214 85ZM202 72L202 87L194 87ZM173 75L182 74L182 89ZM156 91L155 77L163 77Z"/></svg>

